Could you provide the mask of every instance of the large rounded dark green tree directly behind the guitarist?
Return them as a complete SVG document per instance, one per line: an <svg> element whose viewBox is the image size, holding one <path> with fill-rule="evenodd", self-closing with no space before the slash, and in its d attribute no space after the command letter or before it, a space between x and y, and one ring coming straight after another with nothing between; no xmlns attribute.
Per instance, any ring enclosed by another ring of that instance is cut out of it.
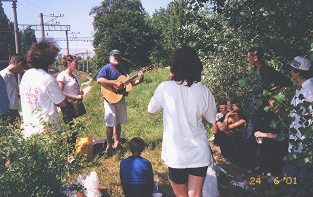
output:
<svg viewBox="0 0 313 197"><path fill-rule="evenodd" d="M94 72L108 62L112 49L120 50L122 64L130 70L149 64L153 39L150 20L140 0L104 0L89 14L94 15Z"/></svg>

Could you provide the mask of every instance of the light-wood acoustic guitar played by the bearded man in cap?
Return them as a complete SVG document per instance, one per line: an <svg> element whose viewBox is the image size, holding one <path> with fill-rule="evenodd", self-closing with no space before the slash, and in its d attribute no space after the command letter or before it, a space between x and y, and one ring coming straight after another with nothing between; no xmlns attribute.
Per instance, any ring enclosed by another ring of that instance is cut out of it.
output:
<svg viewBox="0 0 313 197"><path fill-rule="evenodd" d="M120 101L124 95L125 92L129 92L132 90L132 81L139 76L139 74L145 73L147 71L151 71L155 67L153 65L150 65L148 68L140 71L139 73L135 74L134 76L127 78L125 75L120 75L116 80L112 80L114 82L123 83L124 89L119 90L117 87L112 85L101 85L100 86L100 92L102 97L110 102L110 103L117 103Z"/></svg>

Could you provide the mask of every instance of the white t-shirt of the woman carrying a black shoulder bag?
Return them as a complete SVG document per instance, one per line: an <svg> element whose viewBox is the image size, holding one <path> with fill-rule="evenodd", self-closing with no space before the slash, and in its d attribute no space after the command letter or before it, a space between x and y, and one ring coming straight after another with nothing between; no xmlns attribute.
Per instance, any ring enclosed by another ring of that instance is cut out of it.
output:
<svg viewBox="0 0 313 197"><path fill-rule="evenodd" d="M63 92L69 95L77 96L79 95L79 87L81 86L81 83L78 80L77 76L75 74L73 75L76 79L68 76L68 74L65 71L62 71L60 74L58 74L57 81L62 81L64 83ZM73 101L73 99L67 99L67 100L68 102Z"/></svg>

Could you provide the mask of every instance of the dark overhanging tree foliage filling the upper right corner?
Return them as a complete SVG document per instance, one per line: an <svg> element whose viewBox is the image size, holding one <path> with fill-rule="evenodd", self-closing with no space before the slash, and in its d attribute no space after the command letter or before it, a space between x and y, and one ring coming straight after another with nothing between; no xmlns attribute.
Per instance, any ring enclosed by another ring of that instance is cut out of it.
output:
<svg viewBox="0 0 313 197"><path fill-rule="evenodd" d="M308 55L313 38L313 3L305 0L193 0L195 10L212 3L229 26L241 29L251 44L267 50L278 68ZM311 43L310 43L311 44Z"/></svg>

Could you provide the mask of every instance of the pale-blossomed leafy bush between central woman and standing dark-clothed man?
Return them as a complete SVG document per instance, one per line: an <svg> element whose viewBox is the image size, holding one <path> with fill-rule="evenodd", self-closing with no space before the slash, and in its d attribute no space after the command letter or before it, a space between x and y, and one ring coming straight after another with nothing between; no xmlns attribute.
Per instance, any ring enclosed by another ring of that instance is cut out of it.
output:
<svg viewBox="0 0 313 197"><path fill-rule="evenodd" d="M198 50L204 67L201 83L212 90L217 103L239 99L247 114L251 92L238 84L239 79L250 78L251 67L246 63L250 43L246 42L246 35L229 27L224 16L215 13L211 4L189 11L195 18L182 27L183 37L189 46Z"/></svg>

